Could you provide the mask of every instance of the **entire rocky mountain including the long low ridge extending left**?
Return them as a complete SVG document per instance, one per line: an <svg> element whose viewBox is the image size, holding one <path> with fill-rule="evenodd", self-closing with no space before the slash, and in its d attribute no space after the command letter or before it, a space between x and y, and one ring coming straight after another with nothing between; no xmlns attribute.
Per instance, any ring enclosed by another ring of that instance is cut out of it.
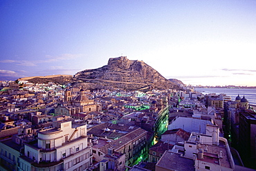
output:
<svg viewBox="0 0 256 171"><path fill-rule="evenodd" d="M147 63L129 60L127 57L110 58L106 66L83 70L72 75L51 75L44 77L24 77L17 81L27 80L31 83L69 84L90 90L166 90L179 89L183 84L177 79L165 79Z"/></svg>

